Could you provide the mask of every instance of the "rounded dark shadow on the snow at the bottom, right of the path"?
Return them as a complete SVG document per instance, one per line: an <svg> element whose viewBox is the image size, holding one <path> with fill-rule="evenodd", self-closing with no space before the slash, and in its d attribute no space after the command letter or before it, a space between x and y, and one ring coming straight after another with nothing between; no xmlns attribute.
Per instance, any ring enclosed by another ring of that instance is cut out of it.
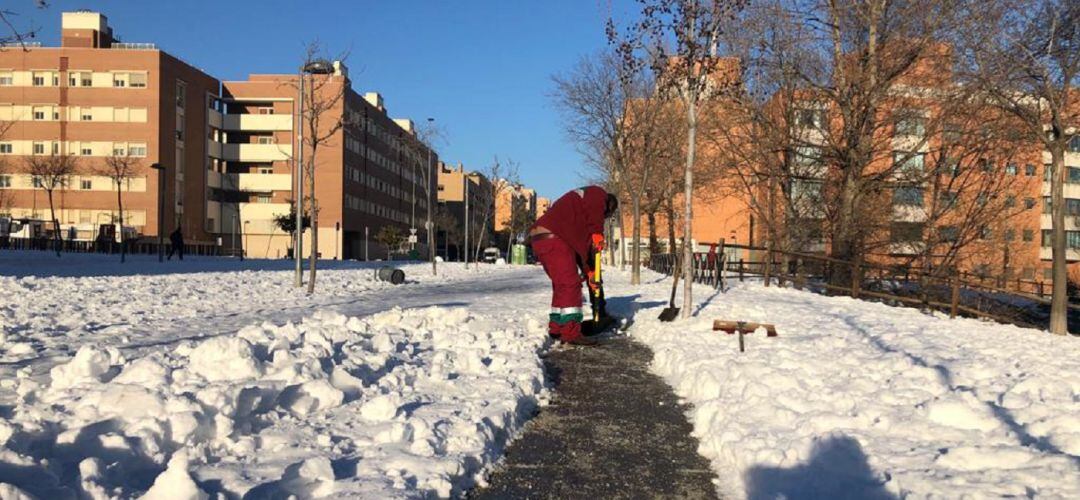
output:
<svg viewBox="0 0 1080 500"><path fill-rule="evenodd" d="M746 474L751 500L786 498L893 500L853 437L834 434L814 444L810 460L793 468L755 467Z"/></svg>

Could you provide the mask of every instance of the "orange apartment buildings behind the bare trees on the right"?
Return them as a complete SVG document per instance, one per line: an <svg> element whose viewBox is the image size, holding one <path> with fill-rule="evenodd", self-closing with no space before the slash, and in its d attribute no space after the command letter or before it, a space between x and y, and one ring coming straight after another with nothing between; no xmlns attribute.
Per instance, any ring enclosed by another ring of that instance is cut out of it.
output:
<svg viewBox="0 0 1080 500"><path fill-rule="evenodd" d="M1041 151L1039 145L1002 139L997 145L982 145L984 150L978 156L971 154L969 149L966 164L961 164L960 160L946 158L948 148L944 143L949 140L947 137L975 137L977 133L985 133L983 127L986 122L991 121L991 111L968 109L964 112L970 114L958 120L955 114L950 114L956 113L956 109L946 111L941 108L933 97L935 90L953 85L954 82L949 66L943 64L950 57L950 51L944 45L939 49L940 51L931 54L932 60L916 65L912 73L905 76L891 93L889 112L897 120L880 131L882 137L878 139L878 144L881 146L877 147L882 150L875 151L878 158L870 165L870 171L893 174L892 181L887 183L888 187L874 194L870 202L866 203L867 210L881 213L865 214L865 220L875 221L875 225L877 221L882 222L867 231L867 238L873 241L869 258L886 263L916 262L924 254L930 256L933 265L933 261L941 260L947 252L954 251L949 248L950 245L969 238L972 241L956 249L954 263L959 269L1007 281L1049 281L1049 152ZM783 186L772 185L765 178L757 179L754 194L758 207L769 206L770 199L789 199L794 205L792 207L775 202L778 214L791 210L791 215L797 221L793 224L795 227L783 228L783 231L800 232L801 237L806 237L799 248L804 252L825 252L829 242L823 231L823 207L827 197L835 192L839 179L828 161L824 160L818 143L824 140L821 133L823 127L828 126L831 110L812 95L804 94L794 98L798 103L794 107L798 109L793 117L793 136L800 145L792 151L794 174L783 181ZM980 117L986 117L986 120L981 122ZM957 130L957 126L969 130ZM1008 136L1009 134L1002 134L1000 137ZM1066 158L1066 166L1069 168L1066 198L1070 214L1067 228L1070 263L1080 260L1080 225L1076 224L1077 217L1071 217L1080 215L1080 200L1077 200L1080 187L1072 189L1074 186L1080 186L1080 139L1074 143L1075 146L1070 147ZM712 149L715 144L715 140L702 140L699 137L699 159L710 161L711 156L716 153ZM949 168L951 172L936 176L940 181L935 183L931 181L935 177L929 173L946 170L937 162L954 162L954 165ZM904 175L906 172L913 175ZM719 176L698 186L693 234L699 248L720 239L728 243L761 245L768 237L760 212L752 210L746 188L731 186L732 178L732 175ZM964 184L968 186L957 187ZM981 191L972 186L988 188ZM683 202L676 200L676 207L680 207ZM983 212L983 215L975 217L977 225L972 224L972 218L963 218L963 214L975 212L969 210L972 207ZM664 241L669 233L667 217L663 210L654 215L654 231ZM626 232L630 231L630 217L624 217ZM642 227L643 241L639 243L645 246L648 222L643 220ZM962 234L964 231L968 231L968 237ZM680 221L672 232L681 235ZM1074 268L1071 271L1077 274L1076 278L1080 278L1080 266L1070 268Z"/></svg>

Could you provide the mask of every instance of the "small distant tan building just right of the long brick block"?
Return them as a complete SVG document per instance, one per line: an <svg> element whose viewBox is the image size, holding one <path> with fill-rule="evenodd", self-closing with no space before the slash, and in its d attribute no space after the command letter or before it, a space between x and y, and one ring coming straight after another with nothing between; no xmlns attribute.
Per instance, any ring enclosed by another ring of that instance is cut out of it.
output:
<svg viewBox="0 0 1080 500"><path fill-rule="evenodd" d="M491 181L478 172L470 172L464 165L458 163L450 166L446 163L438 164L438 206L454 218L457 231L446 231L445 228L436 228L440 232L437 239L442 241L441 247L447 258L459 258L458 245L464 243L464 228L469 226L469 238L471 242L477 239L491 241L494 230L489 219L495 213L495 199L492 198ZM465 213L465 197L469 197L468 215ZM483 231L483 233L481 232ZM450 233L457 233L450 238ZM472 243L470 243L470 246ZM451 255L450 247L454 247Z"/></svg>

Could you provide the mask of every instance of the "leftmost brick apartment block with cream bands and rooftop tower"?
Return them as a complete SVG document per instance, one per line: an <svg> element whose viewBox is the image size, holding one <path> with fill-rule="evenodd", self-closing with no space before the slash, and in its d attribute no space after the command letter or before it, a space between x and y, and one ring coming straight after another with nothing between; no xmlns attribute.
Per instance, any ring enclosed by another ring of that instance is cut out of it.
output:
<svg viewBox="0 0 1080 500"><path fill-rule="evenodd" d="M218 81L153 44L117 40L99 13L64 13L60 40L58 48L0 51L0 121L9 125L0 137L0 189L9 191L0 212L49 219L27 159L71 156L76 173L56 191L56 215L64 238L93 239L100 226L120 222L114 185L102 174L105 161L131 157L135 174L122 184L123 225L144 235L180 227L188 241L213 242L202 186L207 103Z"/></svg>

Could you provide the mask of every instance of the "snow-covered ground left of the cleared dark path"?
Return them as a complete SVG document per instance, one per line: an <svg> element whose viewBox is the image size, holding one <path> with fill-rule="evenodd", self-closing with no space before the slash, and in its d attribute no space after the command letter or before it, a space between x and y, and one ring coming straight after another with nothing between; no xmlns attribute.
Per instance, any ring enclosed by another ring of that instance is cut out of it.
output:
<svg viewBox="0 0 1080 500"><path fill-rule="evenodd" d="M0 498L446 497L546 398L536 269L112 261L0 253Z"/></svg>

